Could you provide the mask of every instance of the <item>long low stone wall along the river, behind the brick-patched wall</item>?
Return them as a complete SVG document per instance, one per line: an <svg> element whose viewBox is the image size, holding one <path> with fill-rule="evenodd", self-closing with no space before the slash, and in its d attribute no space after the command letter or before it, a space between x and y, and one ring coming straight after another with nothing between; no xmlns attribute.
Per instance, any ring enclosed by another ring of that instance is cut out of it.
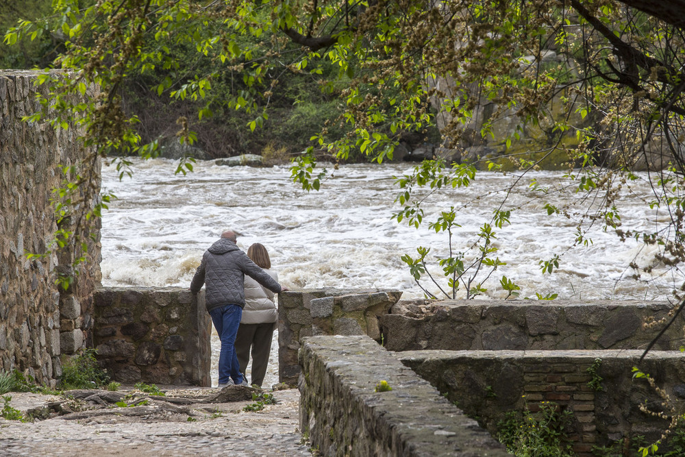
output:
<svg viewBox="0 0 685 457"><path fill-rule="evenodd" d="M640 349L671 305L655 301L402 300L380 317L385 346L416 349ZM654 350L685 346L680 314Z"/></svg>

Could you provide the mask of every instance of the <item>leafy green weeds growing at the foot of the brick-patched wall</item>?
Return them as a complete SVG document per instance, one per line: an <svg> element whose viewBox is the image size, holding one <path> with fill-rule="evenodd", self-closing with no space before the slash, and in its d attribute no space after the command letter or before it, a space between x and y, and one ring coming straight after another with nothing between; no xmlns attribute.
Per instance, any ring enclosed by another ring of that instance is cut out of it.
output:
<svg viewBox="0 0 685 457"><path fill-rule="evenodd" d="M516 457L573 457L568 430L573 412L542 402L538 412L527 406L511 411L497 424L497 439Z"/></svg>

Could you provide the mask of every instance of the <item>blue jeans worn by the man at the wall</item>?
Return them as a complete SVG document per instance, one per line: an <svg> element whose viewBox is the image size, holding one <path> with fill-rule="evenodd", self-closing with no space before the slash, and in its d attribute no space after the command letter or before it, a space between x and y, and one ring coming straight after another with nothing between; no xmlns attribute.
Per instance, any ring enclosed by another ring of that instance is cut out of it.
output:
<svg viewBox="0 0 685 457"><path fill-rule="evenodd" d="M238 305L219 306L210 311L214 328L221 340L219 354L219 384L228 384L229 379L234 383L242 383L240 362L236 354L236 334L242 317L242 308Z"/></svg>

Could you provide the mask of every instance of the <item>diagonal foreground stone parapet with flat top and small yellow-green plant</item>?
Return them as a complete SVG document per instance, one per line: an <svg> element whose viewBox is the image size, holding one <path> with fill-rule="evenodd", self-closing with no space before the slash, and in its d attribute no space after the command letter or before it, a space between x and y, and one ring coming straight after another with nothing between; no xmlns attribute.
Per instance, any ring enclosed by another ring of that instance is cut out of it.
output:
<svg viewBox="0 0 685 457"><path fill-rule="evenodd" d="M299 360L300 430L323 455L510 455L368 336L304 338Z"/></svg>

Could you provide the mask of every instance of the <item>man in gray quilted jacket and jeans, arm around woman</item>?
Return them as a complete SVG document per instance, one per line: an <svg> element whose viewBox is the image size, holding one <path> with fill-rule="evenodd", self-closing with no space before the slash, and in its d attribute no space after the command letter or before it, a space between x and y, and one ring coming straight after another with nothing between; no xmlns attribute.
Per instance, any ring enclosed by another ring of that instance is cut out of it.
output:
<svg viewBox="0 0 685 457"><path fill-rule="evenodd" d="M223 232L221 239L205 251L190 282L190 291L195 293L200 291L202 284L206 284L205 304L221 339L220 388L229 384L247 386L247 381L240 373L235 348L242 308L245 307L245 275L273 293L288 290L250 260L236 245L236 240L236 234L232 230Z"/></svg>

